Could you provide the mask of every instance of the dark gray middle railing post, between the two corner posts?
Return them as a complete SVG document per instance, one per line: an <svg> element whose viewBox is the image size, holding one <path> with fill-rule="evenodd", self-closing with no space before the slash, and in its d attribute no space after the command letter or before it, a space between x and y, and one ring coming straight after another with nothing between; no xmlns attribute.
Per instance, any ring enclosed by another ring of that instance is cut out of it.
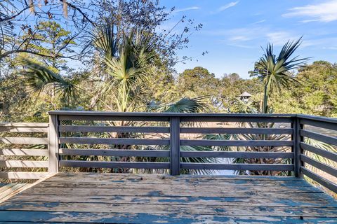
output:
<svg viewBox="0 0 337 224"><path fill-rule="evenodd" d="M170 118L171 175L180 174L180 118Z"/></svg>

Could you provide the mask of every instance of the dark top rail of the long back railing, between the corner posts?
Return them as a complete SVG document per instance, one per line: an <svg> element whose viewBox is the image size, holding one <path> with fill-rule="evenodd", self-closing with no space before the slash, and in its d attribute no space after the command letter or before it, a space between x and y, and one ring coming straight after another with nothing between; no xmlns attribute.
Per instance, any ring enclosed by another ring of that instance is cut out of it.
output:
<svg viewBox="0 0 337 224"><path fill-rule="evenodd" d="M152 112L102 112L102 111L49 111L49 115L66 116L117 116L117 117L242 117L242 118L295 118L296 114L269 113L152 113Z"/></svg>

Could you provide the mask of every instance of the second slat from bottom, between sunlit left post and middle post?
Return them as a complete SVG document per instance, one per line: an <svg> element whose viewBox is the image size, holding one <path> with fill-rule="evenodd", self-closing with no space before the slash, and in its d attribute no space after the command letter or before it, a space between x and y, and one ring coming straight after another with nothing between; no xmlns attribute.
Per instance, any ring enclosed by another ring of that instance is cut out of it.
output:
<svg viewBox="0 0 337 224"><path fill-rule="evenodd" d="M169 151L152 150L116 150L116 149L70 149L60 148L60 155L102 155L102 156L140 156L140 157L169 157Z"/></svg>

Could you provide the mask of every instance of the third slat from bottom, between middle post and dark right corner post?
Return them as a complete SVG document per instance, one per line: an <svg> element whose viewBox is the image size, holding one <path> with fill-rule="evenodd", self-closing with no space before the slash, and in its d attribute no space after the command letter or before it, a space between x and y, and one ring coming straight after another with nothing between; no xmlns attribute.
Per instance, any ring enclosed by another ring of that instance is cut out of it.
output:
<svg viewBox="0 0 337 224"><path fill-rule="evenodd" d="M293 141L276 140L180 140L181 146L293 146Z"/></svg>

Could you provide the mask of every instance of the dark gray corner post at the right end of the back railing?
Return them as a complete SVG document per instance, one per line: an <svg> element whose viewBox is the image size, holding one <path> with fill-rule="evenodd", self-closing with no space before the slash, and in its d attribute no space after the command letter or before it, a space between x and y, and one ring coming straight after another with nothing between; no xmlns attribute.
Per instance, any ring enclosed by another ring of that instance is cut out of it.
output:
<svg viewBox="0 0 337 224"><path fill-rule="evenodd" d="M303 141L303 138L300 137L300 130L303 129L303 125L300 124L300 118L293 119L293 166L295 170L296 177L303 177L303 174L300 172L300 167L302 162L300 160L301 148L300 141Z"/></svg>

